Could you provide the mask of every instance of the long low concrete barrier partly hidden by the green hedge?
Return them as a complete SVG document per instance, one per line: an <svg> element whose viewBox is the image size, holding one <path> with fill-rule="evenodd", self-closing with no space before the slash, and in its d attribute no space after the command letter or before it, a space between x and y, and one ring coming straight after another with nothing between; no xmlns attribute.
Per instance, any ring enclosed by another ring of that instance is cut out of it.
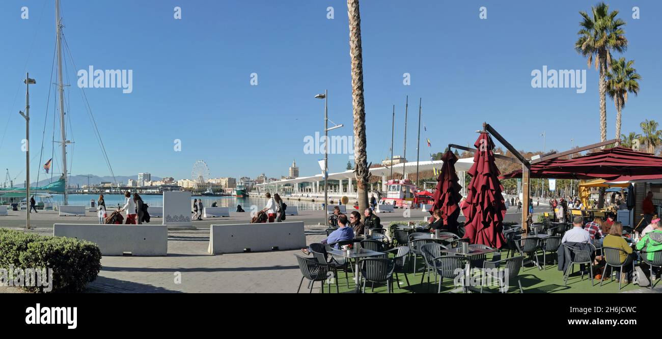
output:
<svg viewBox="0 0 662 339"><path fill-rule="evenodd" d="M167 225L54 224L53 236L94 242L104 256L167 255Z"/></svg>

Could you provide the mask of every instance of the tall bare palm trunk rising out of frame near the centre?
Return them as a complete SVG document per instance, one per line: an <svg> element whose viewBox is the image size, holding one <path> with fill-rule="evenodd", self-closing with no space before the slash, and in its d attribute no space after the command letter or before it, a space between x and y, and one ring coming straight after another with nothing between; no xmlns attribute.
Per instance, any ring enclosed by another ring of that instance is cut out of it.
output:
<svg viewBox="0 0 662 339"><path fill-rule="evenodd" d="M352 107L354 108L354 173L359 211L368 207L369 165L365 152L365 102L363 101L363 51L361 49L361 14L359 0L347 0L350 19L350 60L352 62Z"/></svg>

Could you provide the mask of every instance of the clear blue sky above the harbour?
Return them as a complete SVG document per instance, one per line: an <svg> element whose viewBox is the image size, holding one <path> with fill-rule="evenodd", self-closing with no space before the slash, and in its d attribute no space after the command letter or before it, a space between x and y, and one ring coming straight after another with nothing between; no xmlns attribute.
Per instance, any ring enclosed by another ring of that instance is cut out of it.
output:
<svg viewBox="0 0 662 339"><path fill-rule="evenodd" d="M657 1L610 1L629 40L624 56L643 79L624 109L623 132L643 119L660 120L662 55ZM520 149L565 150L599 141L598 72L587 70L587 91L532 88L531 72L586 70L573 49L578 11L592 1L361 1L363 70L369 161L390 154L396 107L395 154L402 154L404 99L409 95L407 158L416 160L418 98L422 97L421 159L447 144L473 144L487 121ZM21 19L27 6L29 19ZM181 7L181 20L173 8ZM487 7L487 19L479 7ZM632 7L640 19L632 19ZM334 19L327 19L334 7ZM76 68L67 61L73 174L109 170L85 112L77 70L132 70L133 91L85 89L116 175L148 171L189 178L197 160L212 177L287 175L297 160L301 175L319 173L320 154L305 154L305 136L322 132L329 117L345 124L332 135L352 135L352 87L346 1L82 1L62 0L64 32ZM24 72L30 89L32 156L51 157L53 105L49 78L55 46L53 0L0 3L0 154L2 168L24 177ZM68 58L67 58L68 59ZM258 85L251 85L251 73ZM403 73L410 85L403 85ZM608 138L616 111L608 99ZM5 132L6 130L6 132ZM428 148L425 138L430 138ZM56 137L57 139L57 137ZM181 152L173 140L181 140ZM55 171L60 170L56 151ZM32 162L32 180L40 167ZM347 154L330 156L344 170ZM71 161L71 160L70 160ZM44 173L40 174L43 179Z"/></svg>

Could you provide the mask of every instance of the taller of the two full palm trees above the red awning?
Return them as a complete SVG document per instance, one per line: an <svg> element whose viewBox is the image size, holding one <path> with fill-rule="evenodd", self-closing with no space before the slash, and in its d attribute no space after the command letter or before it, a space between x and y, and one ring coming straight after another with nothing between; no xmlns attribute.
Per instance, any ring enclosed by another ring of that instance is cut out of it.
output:
<svg viewBox="0 0 662 339"><path fill-rule="evenodd" d="M600 70L598 89L600 92L600 141L607 140L606 73L611 64L611 51L624 52L628 48L628 39L622 26L626 23L616 19L618 11L609 12L609 5L598 3L591 7L592 17L586 12L579 12L583 21L579 22L579 39L575 50L585 56L589 67L595 60L595 69Z"/></svg>

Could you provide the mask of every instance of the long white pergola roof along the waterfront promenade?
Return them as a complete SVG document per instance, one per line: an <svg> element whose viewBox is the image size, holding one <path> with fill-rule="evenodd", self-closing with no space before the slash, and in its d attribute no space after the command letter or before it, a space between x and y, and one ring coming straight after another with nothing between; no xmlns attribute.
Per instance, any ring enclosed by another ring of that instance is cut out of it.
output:
<svg viewBox="0 0 662 339"><path fill-rule="evenodd" d="M434 161L425 161L425 162L418 162L418 170L419 171L430 171L433 168L436 168L437 170L442 169L442 164L444 162L442 160L434 160ZM456 171L468 171L469 168L473 166L473 158L463 158L457 160L455 163L455 170ZM416 173L416 162L405 162L402 164L395 164L393 165L393 173ZM372 175L376 176L388 176L391 175L391 167L378 167L378 168L371 168L370 173ZM328 179L330 180L345 180L345 179L355 179L354 175L354 170L347 170L344 172L338 172L338 173L329 173ZM306 183L306 182L314 182L314 181L322 181L324 180L324 176L320 173L317 175L312 175L311 177L297 177L295 179L283 179L279 181L271 181L269 183L258 183L257 186L265 186L265 185L285 185L285 184L295 184L295 183Z"/></svg>

